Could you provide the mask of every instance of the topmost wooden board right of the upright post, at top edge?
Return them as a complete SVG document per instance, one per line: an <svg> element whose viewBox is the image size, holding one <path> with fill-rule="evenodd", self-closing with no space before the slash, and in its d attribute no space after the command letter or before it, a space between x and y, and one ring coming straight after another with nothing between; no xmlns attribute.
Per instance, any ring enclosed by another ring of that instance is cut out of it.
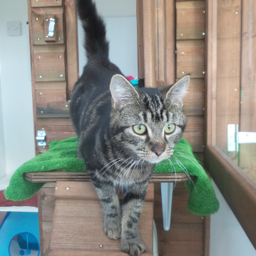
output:
<svg viewBox="0 0 256 256"><path fill-rule="evenodd" d="M177 8L177 40L205 38L205 1L180 1Z"/></svg>

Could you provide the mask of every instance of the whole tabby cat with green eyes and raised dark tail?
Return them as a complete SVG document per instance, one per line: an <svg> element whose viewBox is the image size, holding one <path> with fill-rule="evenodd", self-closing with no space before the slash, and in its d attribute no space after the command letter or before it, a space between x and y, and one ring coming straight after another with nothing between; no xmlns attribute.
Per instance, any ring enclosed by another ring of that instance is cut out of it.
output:
<svg viewBox="0 0 256 256"><path fill-rule="evenodd" d="M190 76L174 86L134 88L108 59L106 28L95 4L77 0L76 5L88 58L71 99L77 156L101 200L104 232L112 239L121 237L123 252L140 255L145 246L138 221L148 181L155 163L170 158L183 134ZM116 186L123 192L122 206Z"/></svg>

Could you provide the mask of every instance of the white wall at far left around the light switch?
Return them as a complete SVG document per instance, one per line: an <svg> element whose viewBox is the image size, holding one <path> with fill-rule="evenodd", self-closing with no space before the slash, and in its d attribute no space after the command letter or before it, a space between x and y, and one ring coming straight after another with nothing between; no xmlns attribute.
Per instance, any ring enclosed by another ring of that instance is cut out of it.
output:
<svg viewBox="0 0 256 256"><path fill-rule="evenodd" d="M27 0L0 0L1 104L6 175L33 158L34 124ZM22 36L7 36L6 22L20 21ZM0 111L1 113L1 111ZM1 114L0 114L1 115ZM0 138L1 141L1 138Z"/></svg>

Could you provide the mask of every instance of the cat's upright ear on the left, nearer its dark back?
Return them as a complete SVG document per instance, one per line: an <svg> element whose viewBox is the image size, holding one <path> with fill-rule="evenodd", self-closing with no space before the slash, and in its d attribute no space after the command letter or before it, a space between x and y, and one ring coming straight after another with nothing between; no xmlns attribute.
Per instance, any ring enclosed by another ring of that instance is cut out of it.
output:
<svg viewBox="0 0 256 256"><path fill-rule="evenodd" d="M113 108L120 109L132 105L140 98L139 92L121 75L112 77L110 89Z"/></svg>

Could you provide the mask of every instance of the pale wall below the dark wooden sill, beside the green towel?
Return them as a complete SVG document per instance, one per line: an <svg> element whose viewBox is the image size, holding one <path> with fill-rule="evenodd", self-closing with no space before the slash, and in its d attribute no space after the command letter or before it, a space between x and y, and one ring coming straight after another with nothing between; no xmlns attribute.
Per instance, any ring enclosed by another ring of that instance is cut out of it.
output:
<svg viewBox="0 0 256 256"><path fill-rule="evenodd" d="M210 256L256 256L255 248L214 182L213 188L220 210L210 217Z"/></svg>

